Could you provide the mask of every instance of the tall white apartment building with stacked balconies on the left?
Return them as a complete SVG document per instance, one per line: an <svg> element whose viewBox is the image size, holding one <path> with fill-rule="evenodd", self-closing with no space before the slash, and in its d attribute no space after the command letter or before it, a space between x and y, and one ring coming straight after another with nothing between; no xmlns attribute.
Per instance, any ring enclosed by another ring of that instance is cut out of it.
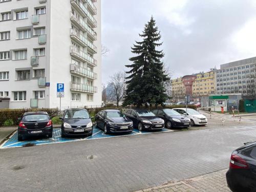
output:
<svg viewBox="0 0 256 192"><path fill-rule="evenodd" d="M0 108L101 105L101 0L0 0Z"/></svg>

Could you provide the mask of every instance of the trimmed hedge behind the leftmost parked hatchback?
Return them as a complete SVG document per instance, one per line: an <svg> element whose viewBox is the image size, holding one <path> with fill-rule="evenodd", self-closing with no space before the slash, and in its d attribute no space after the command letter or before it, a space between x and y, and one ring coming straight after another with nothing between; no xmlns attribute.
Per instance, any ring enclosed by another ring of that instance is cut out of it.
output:
<svg viewBox="0 0 256 192"><path fill-rule="evenodd" d="M0 110L0 126L13 126L17 125L18 118L22 117L25 112L31 111L44 111L49 114L51 118L57 115L57 109L3 109Z"/></svg>

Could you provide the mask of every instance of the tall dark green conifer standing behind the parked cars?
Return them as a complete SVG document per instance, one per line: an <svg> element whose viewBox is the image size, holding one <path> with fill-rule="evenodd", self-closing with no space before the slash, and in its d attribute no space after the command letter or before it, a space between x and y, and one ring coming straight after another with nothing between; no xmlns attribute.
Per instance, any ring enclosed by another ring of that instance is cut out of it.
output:
<svg viewBox="0 0 256 192"><path fill-rule="evenodd" d="M130 58L133 63L125 66L131 70L126 72L129 76L126 77L124 105L135 104L139 107L147 103L162 104L167 99L164 82L169 78L163 70L163 51L156 50L162 42L158 42L161 35L153 17L139 36L143 40L136 41L132 47L132 53L138 56Z"/></svg>

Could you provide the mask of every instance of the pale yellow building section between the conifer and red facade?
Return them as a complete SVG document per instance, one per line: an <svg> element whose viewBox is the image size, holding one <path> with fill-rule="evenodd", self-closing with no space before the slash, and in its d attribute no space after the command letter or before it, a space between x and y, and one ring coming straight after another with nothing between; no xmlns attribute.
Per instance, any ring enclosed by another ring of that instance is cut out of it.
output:
<svg viewBox="0 0 256 192"><path fill-rule="evenodd" d="M185 100L185 86L182 82L182 77L177 79L172 79L172 97L174 101L184 101Z"/></svg>

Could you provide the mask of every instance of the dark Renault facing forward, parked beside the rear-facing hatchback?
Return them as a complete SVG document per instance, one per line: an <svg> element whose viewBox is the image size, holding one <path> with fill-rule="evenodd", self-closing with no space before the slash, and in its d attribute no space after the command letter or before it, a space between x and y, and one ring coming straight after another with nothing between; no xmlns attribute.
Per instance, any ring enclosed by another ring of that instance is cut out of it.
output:
<svg viewBox="0 0 256 192"><path fill-rule="evenodd" d="M67 136L91 136L93 134L93 123L86 109L68 109L60 117L61 137Z"/></svg>

